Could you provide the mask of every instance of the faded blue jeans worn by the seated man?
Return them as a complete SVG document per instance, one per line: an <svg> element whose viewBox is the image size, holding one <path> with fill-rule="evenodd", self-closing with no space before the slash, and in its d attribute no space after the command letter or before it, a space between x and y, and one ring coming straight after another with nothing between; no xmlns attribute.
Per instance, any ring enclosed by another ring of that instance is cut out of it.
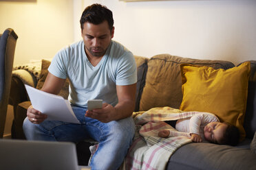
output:
<svg viewBox="0 0 256 170"><path fill-rule="evenodd" d="M87 108L72 106L81 124L62 121L31 123L28 117L23 122L23 131L28 140L70 141L78 143L88 138L98 141L98 149L91 159L92 169L118 169L127 154L135 133L131 117L102 123L85 117Z"/></svg>

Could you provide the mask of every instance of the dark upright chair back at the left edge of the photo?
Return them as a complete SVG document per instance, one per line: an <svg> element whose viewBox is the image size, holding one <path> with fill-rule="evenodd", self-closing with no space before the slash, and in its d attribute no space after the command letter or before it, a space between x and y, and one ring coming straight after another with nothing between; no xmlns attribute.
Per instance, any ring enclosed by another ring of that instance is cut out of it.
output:
<svg viewBox="0 0 256 170"><path fill-rule="evenodd" d="M0 138L3 138L6 113L10 96L12 66L17 34L11 28L0 34Z"/></svg>

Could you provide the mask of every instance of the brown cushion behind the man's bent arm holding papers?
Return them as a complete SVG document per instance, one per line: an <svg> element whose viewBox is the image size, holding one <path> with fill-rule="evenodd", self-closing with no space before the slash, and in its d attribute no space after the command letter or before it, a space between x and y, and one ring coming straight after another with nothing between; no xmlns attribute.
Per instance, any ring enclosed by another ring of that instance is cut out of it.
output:
<svg viewBox="0 0 256 170"><path fill-rule="evenodd" d="M45 79L47 77L48 74L48 67L50 66L51 62L49 60L42 60L42 67L41 67L41 75L39 77L39 81L37 82L36 88L37 89L41 89L43 87L43 83L45 82ZM64 97L64 99L67 99L68 95L69 95L69 85L70 85L70 81L68 79L66 79L65 84L63 86L63 88L61 88L61 92L58 93L59 96Z"/></svg>

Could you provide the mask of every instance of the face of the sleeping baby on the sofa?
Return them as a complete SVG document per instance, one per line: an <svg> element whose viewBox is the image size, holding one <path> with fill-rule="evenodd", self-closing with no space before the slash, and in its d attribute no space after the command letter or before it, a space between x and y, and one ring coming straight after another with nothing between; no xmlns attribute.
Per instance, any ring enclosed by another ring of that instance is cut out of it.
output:
<svg viewBox="0 0 256 170"><path fill-rule="evenodd" d="M211 122L204 127L204 138L211 143L220 143L228 125L220 122Z"/></svg>

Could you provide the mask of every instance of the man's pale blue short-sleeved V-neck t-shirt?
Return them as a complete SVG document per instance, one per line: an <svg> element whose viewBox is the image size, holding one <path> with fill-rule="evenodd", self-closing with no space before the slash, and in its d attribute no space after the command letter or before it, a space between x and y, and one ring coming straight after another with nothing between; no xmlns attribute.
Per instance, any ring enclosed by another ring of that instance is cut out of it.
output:
<svg viewBox="0 0 256 170"><path fill-rule="evenodd" d="M111 40L96 66L87 59L83 40L56 53L48 71L61 79L70 80L71 104L87 107L89 99L103 99L115 106L118 103L116 85L125 86L137 82L137 69L131 51Z"/></svg>

